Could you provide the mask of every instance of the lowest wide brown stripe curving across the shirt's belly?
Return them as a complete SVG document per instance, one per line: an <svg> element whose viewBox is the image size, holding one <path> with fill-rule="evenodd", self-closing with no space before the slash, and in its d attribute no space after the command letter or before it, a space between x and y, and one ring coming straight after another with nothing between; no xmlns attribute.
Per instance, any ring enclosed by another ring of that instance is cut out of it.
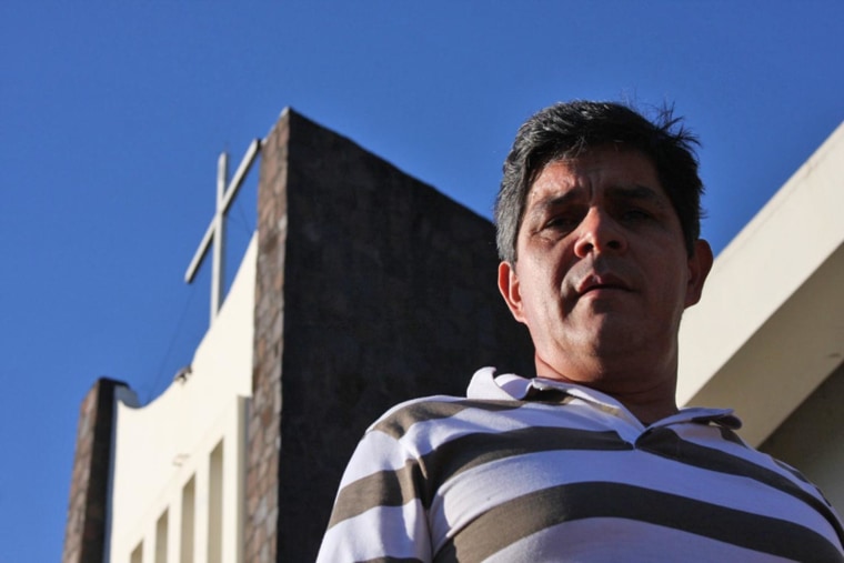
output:
<svg viewBox="0 0 844 563"><path fill-rule="evenodd" d="M604 482L544 489L503 503L462 530L434 561L483 561L547 527L592 517L646 522L806 563L844 561L821 534L792 522Z"/></svg>

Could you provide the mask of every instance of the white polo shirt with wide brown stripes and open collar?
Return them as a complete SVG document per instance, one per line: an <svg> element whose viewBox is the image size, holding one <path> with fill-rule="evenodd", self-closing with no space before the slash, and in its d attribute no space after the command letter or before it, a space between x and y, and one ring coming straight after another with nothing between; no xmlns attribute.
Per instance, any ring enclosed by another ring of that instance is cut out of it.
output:
<svg viewBox="0 0 844 563"><path fill-rule="evenodd" d="M730 410L649 426L597 391L494 370L366 431L318 561L844 562L842 523Z"/></svg>

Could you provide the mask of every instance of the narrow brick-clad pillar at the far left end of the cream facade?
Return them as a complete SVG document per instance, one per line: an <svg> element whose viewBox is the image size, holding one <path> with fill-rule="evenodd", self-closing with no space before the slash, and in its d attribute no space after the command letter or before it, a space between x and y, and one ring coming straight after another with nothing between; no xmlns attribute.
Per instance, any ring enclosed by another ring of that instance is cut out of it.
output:
<svg viewBox="0 0 844 563"><path fill-rule="evenodd" d="M121 386L125 383L98 380L79 409L62 563L104 561L114 401Z"/></svg>

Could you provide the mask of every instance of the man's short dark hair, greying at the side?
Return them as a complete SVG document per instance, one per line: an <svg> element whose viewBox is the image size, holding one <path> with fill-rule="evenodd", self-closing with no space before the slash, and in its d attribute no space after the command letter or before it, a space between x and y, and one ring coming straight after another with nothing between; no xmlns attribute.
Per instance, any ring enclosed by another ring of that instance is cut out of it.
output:
<svg viewBox="0 0 844 563"><path fill-rule="evenodd" d="M649 121L635 110L614 102L555 103L535 113L519 128L504 161L504 175L495 199L499 257L516 260L516 237L533 182L549 162L575 158L590 148L621 143L651 159L683 228L690 255L701 234L701 194L697 175L697 139L673 115L660 110Z"/></svg>

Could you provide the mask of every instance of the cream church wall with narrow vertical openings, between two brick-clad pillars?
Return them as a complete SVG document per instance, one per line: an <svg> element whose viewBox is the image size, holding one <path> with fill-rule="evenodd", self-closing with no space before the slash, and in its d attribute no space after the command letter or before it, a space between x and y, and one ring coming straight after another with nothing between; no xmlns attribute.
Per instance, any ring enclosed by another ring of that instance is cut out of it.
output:
<svg viewBox="0 0 844 563"><path fill-rule="evenodd" d="M118 404L113 563L242 557L255 257L253 238L191 373L143 408Z"/></svg>

